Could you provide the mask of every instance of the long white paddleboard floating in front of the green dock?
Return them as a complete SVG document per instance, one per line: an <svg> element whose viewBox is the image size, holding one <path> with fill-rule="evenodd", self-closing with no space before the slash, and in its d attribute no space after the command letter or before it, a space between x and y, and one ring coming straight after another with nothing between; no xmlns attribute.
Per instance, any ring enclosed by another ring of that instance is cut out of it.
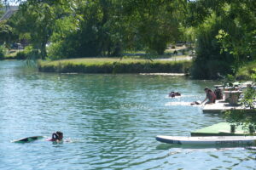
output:
<svg viewBox="0 0 256 170"><path fill-rule="evenodd" d="M156 140L167 144L210 144L210 145L256 145L256 136L211 136L211 137L183 137L156 136Z"/></svg>

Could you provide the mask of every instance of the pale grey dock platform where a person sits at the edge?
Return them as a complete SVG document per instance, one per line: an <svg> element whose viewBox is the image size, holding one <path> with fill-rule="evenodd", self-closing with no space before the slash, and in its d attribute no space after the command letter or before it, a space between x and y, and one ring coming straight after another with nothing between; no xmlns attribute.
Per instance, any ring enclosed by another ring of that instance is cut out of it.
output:
<svg viewBox="0 0 256 170"><path fill-rule="evenodd" d="M205 105L202 109L203 113L221 113L223 111L230 110L253 111L251 109L245 108L242 105L230 105L229 103L225 102L224 99L216 100L215 104ZM255 110L253 112L255 112Z"/></svg>

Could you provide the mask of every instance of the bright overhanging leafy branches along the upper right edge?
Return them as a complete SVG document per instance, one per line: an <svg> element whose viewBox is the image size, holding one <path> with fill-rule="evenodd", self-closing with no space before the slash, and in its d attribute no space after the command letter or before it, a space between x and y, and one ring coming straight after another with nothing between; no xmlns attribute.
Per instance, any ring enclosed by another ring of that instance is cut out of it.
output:
<svg viewBox="0 0 256 170"><path fill-rule="evenodd" d="M242 0L230 3L228 14L222 14L225 20L234 20L234 24L229 30L220 30L218 40L224 51L236 56L237 63L256 59L255 8L255 1Z"/></svg>

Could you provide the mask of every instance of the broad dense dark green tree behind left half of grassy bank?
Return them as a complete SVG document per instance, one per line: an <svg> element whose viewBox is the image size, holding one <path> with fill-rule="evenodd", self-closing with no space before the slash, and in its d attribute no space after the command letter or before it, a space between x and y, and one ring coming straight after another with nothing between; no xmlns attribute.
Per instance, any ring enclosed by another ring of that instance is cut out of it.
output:
<svg viewBox="0 0 256 170"><path fill-rule="evenodd" d="M58 48L55 55L65 58L118 55L121 51L121 35L119 13L117 4L108 0L79 1L73 17L62 20L59 27L70 22L71 31L67 26L61 28L61 32L55 32L53 46Z"/></svg>

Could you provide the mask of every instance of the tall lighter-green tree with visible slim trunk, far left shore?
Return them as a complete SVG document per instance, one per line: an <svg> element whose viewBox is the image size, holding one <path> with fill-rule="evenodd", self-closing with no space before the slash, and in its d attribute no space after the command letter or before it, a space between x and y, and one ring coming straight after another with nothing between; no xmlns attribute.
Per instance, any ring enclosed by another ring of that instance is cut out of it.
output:
<svg viewBox="0 0 256 170"><path fill-rule="evenodd" d="M30 35L30 42L42 59L47 56L46 44L55 31L55 21L65 14L67 4L65 0L27 0L20 4L14 19L15 28L20 34Z"/></svg>

